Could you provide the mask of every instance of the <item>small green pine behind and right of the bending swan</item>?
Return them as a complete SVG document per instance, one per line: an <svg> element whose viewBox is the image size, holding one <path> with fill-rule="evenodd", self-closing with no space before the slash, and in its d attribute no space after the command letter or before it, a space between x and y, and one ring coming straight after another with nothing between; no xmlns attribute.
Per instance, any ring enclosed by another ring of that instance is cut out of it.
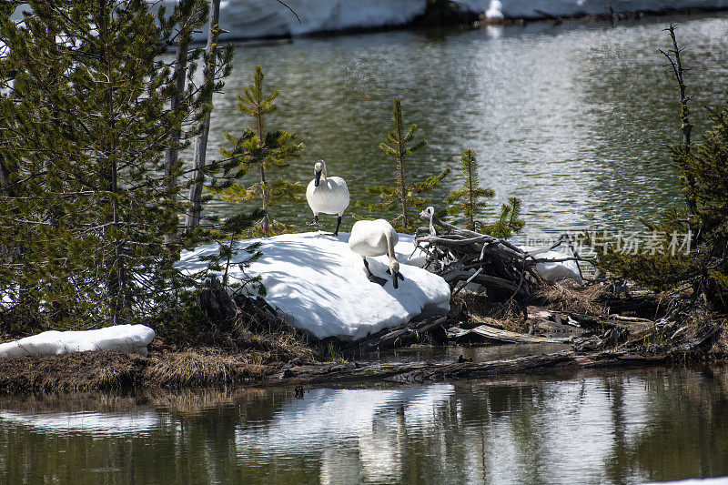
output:
<svg viewBox="0 0 728 485"><path fill-rule="evenodd" d="M379 148L389 157L394 158L397 164L395 167L397 185L394 187L367 187L367 193L375 194L383 200L374 203L358 201L357 205L366 207L369 213L396 210L399 214L390 221L392 226L398 230L411 231L418 220L412 209L420 210L430 204L431 199L421 197L421 195L438 187L442 179L450 173L450 167L446 167L435 177L428 177L422 182L410 183L408 158L412 152L427 146L427 140L420 140L414 145L410 145L410 142L414 139L417 125L413 123L407 132L404 131L401 102L401 98L394 98L394 108L392 109L394 131L390 131L384 141L379 143Z"/></svg>

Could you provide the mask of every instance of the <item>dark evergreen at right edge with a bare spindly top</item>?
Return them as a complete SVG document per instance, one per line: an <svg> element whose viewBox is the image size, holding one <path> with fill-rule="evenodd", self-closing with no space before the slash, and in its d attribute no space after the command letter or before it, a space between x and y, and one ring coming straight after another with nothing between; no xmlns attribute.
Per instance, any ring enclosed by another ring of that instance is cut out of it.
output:
<svg viewBox="0 0 728 485"><path fill-rule="evenodd" d="M674 29L669 30L674 35ZM674 36L672 40L674 56L678 48ZM683 135L682 145L672 147L672 160L680 173L687 208L672 209L662 222L647 222L646 226L662 239L662 248L674 245L676 237L683 244L678 251L637 254L610 248L600 256L598 266L649 288L692 286L696 297L702 295L714 308L725 310L728 309L728 106L723 110L709 110L713 128L700 143L691 145L686 107L689 98L682 83L684 69L677 63L672 67L680 87Z"/></svg>

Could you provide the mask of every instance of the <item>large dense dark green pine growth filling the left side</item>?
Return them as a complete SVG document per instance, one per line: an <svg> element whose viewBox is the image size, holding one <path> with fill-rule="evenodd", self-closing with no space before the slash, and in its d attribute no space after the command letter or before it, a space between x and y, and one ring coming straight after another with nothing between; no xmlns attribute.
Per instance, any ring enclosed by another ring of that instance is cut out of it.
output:
<svg viewBox="0 0 728 485"><path fill-rule="evenodd" d="M82 328L158 315L187 286L179 246L164 242L181 211L164 154L206 111L194 65L180 93L160 55L207 2L168 18L144 0L27 4L23 25L10 20L17 4L0 5L2 318Z"/></svg>

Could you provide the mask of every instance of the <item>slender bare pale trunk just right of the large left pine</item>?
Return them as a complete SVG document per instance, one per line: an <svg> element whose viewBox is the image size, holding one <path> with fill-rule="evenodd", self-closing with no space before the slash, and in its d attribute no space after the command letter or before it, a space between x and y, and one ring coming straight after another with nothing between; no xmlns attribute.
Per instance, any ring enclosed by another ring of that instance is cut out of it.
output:
<svg viewBox="0 0 728 485"><path fill-rule="evenodd" d="M210 16L209 23L207 25L207 46L205 47L205 82L215 83L215 51L217 49L217 35L220 32L220 28L217 25L220 17L220 0L210 0ZM209 86L207 92L207 99L204 101L207 104L212 104L213 89ZM194 172L192 177L194 183L189 187L189 201L192 207L187 210L187 220L185 221L185 228L187 231L194 230L199 226L199 213L201 210L201 199L202 199L202 184L205 179L203 170L205 169L205 155L207 152L207 136L210 131L210 116L207 115L202 122L200 134L195 140L195 156L194 156Z"/></svg>

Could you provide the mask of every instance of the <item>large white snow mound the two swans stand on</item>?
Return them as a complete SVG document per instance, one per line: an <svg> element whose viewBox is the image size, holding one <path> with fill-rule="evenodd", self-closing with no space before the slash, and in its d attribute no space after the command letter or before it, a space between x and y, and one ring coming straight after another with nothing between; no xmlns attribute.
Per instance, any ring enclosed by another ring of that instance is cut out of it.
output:
<svg viewBox="0 0 728 485"><path fill-rule="evenodd" d="M450 287L444 279L422 268L424 258L416 255L412 237L399 235L395 247L404 281L392 287L386 274L387 257L369 258L369 268L387 283L381 287L367 278L361 257L349 249L349 233L339 237L323 232L285 234L250 239L241 245L260 242L263 257L246 272L261 275L266 300L287 316L297 328L318 338L359 339L382 328L396 327L420 314L444 314L450 310ZM207 268L200 256L217 255L217 244L185 251L179 268L196 273ZM247 258L238 253L238 261ZM241 277L230 267L231 277Z"/></svg>

